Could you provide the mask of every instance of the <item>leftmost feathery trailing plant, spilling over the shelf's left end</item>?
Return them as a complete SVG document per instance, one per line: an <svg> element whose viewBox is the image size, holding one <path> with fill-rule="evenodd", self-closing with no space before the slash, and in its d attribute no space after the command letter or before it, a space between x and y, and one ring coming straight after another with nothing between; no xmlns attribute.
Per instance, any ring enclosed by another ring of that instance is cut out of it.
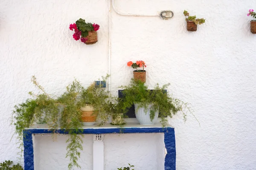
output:
<svg viewBox="0 0 256 170"><path fill-rule="evenodd" d="M35 122L47 122L49 130L53 133L56 133L58 129L58 105L56 105L56 99L52 95L45 93L44 88L38 84L34 76L31 80L43 93L35 95L29 92L32 99L26 99L25 102L15 105L12 113L11 124L15 125L15 134L17 134L18 148L20 150L18 153L20 161L23 154L23 138L26 138L23 135L25 128L34 125Z"/></svg>

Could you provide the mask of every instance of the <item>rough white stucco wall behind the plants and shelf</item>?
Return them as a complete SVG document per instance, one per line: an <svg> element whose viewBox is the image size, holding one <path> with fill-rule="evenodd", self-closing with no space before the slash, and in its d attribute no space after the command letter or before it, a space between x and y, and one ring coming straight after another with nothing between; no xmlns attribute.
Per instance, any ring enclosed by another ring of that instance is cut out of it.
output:
<svg viewBox="0 0 256 170"><path fill-rule="evenodd" d="M248 9L255 8L255 3L255 0L118 0L116 3L120 11L129 13L172 10L171 20L122 17L111 12L113 93L132 77L132 69L126 62L142 59L147 64L149 87L157 82L161 85L171 82L168 90L191 103L201 123L199 127L191 115L185 124L181 115L170 119L175 127L177 170L256 169L256 37L250 33L247 17ZM184 9L206 18L206 23L198 26L196 32L187 32ZM80 17L101 26L95 45L73 40L68 27ZM17 141L9 142L14 131L14 127L9 127L9 117L13 106L24 101L29 96L27 92L35 90L30 82L32 75L46 91L58 95L73 77L86 86L107 72L108 0L1 0L0 161L17 161ZM113 136L115 141L106 137L105 158L114 157L108 155L114 149L111 143L127 140L126 149L115 152L117 158L125 157L124 152L133 147L135 137ZM56 144L39 136L36 141L64 158L64 138L59 136ZM142 136L141 141L146 139L148 136ZM91 145L89 142L86 146L89 151ZM154 143L145 143L142 150L144 147L154 147ZM37 150L46 152L39 147ZM81 159L91 160L88 154ZM148 155L148 162L143 159L147 163L144 169L151 169L153 155ZM47 156L54 160L57 155ZM127 160L127 163L141 167L138 161L141 155L136 156L137 161L131 159L135 162ZM42 163L47 162L42 159ZM63 159L57 162L66 164ZM124 162L120 162L120 167ZM155 162L153 166L157 166ZM112 168L110 162L105 162L105 168Z"/></svg>

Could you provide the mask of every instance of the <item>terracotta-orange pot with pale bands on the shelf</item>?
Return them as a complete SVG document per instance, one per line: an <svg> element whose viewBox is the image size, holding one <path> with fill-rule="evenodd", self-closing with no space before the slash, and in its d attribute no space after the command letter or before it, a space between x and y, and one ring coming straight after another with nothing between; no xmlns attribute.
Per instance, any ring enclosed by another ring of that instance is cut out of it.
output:
<svg viewBox="0 0 256 170"><path fill-rule="evenodd" d="M81 108L81 112L81 122L96 122L97 113L99 113L99 111L94 111L93 106L86 105Z"/></svg>

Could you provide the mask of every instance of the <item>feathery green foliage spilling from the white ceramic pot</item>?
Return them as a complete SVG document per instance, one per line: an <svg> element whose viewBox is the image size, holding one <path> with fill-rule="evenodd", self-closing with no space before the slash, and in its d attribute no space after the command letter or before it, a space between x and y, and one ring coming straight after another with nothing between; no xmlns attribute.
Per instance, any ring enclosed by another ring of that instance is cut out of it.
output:
<svg viewBox="0 0 256 170"><path fill-rule="evenodd" d="M156 84L154 90L149 90L148 86L143 82L134 81L134 79L131 79L129 85L120 87L124 88L122 91L124 94L123 109L127 111L128 108L136 103L138 104L138 109L146 108L144 109L145 113L149 109L151 121L154 119L155 112L159 110L161 113L160 122L163 127L169 125L167 117L169 116L172 118L172 116L178 111L183 113L184 121L186 121L187 113L191 113L195 117L193 114L194 111L189 106L189 103L185 103L180 99L175 99L168 92L166 92L166 88L168 88L169 85L170 83L164 84L162 87L160 87L159 84ZM149 108L150 104L153 105Z"/></svg>

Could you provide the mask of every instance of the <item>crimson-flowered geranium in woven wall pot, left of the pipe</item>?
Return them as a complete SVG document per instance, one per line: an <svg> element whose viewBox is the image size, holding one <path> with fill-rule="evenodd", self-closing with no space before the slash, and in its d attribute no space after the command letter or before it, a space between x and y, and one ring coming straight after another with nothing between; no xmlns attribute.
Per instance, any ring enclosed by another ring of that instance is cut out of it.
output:
<svg viewBox="0 0 256 170"><path fill-rule="evenodd" d="M85 23L85 20L79 19L76 23L70 24L70 30L74 30L73 38L77 41L81 37L81 42L85 44L95 44L98 41L97 32L99 25L95 23Z"/></svg>

